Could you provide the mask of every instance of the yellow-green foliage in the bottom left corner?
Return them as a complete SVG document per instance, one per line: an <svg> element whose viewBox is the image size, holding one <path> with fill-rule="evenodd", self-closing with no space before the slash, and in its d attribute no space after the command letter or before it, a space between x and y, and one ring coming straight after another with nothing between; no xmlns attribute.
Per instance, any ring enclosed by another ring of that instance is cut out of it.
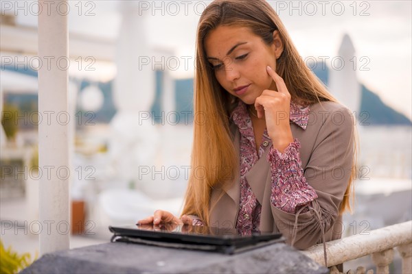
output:
<svg viewBox="0 0 412 274"><path fill-rule="evenodd" d="M34 259L36 260L36 258ZM34 261L31 259L30 253L18 254L12 251L12 247L5 249L3 242L0 240L0 273L14 274L18 273L27 266L30 266Z"/></svg>

